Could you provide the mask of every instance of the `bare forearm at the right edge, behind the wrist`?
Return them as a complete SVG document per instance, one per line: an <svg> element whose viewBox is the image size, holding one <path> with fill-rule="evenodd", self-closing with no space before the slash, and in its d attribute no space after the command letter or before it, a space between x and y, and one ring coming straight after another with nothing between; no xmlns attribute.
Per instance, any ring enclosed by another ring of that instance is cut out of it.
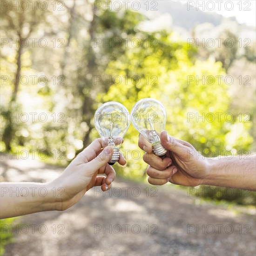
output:
<svg viewBox="0 0 256 256"><path fill-rule="evenodd" d="M209 175L203 184L256 191L256 155L250 159L214 158L209 163Z"/></svg>

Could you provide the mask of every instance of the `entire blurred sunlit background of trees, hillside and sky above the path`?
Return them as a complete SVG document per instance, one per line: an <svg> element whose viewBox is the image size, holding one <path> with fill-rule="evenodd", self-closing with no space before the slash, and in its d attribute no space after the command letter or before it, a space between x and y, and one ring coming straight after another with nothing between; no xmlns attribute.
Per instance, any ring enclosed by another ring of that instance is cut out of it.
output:
<svg viewBox="0 0 256 256"><path fill-rule="evenodd" d="M115 1L112 9L108 1L47 1L46 10L2 2L2 155L33 151L67 166L99 137L93 117L102 103L131 111L147 97L166 108L169 134L202 154L255 152L256 1L212 11L197 6L209 1L130 1L120 10ZM121 148L127 167L116 171L142 182L137 141L131 126Z"/></svg>

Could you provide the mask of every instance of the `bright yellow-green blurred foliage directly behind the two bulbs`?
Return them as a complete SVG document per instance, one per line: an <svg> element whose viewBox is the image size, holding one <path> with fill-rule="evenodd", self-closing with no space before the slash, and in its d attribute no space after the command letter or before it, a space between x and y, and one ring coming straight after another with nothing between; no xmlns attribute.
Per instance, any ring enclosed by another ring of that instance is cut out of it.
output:
<svg viewBox="0 0 256 256"><path fill-rule="evenodd" d="M165 45L157 49L143 49L142 52L131 48L126 55L109 63L107 69L109 75L119 75L119 77L125 75L128 79L127 81L123 79L118 85L112 85L107 94L98 94L98 101L119 99L129 111L135 102L142 98L152 97L161 101L167 109L166 130L169 134L189 141L203 155L209 157L212 155L208 155L206 149L216 154L216 150L225 150L225 148L229 148L232 152L249 148L252 143L252 137L248 133L251 123L240 123L238 119L228 123L224 118L212 122L202 118L189 120L189 114L198 114L202 117L213 113L217 117L216 113L223 113L223 116L229 113L228 86L224 82L219 83L216 80L209 87L198 83L196 79L188 81L188 74L192 79L211 74L224 75L221 64L210 60L194 61L193 58L191 60L189 57L191 50L188 50L182 42L173 43L172 34L163 32L153 36ZM146 51L148 54L145 53ZM140 55L145 57L140 59ZM139 82L133 81L135 75L140 77ZM242 130L237 133L239 128ZM139 153L141 157L137 160L132 159L132 151L138 150L137 136L137 131L131 127L124 142L124 148L130 150L128 152L128 161L130 161L128 168L123 172L125 176L131 178L143 175L147 166L141 162L143 155L141 150Z"/></svg>

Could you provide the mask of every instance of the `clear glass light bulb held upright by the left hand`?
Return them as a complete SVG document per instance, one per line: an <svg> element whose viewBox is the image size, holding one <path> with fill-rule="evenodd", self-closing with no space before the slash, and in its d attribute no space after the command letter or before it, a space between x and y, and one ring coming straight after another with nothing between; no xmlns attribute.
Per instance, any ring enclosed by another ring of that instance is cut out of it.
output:
<svg viewBox="0 0 256 256"><path fill-rule="evenodd" d="M130 113L122 104L114 101L101 105L94 114L95 128L102 138L103 148L112 146L114 153L108 162L113 165L119 160L123 136L130 127Z"/></svg>

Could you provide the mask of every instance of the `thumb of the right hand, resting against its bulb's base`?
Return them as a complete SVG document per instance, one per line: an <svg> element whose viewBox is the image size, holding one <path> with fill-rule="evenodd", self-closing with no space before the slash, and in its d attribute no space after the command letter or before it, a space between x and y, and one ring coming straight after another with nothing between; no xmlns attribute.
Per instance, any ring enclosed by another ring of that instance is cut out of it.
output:
<svg viewBox="0 0 256 256"><path fill-rule="evenodd" d="M181 144L177 139L169 136L167 131L162 131L160 134L160 141L164 148L172 151L177 155L187 155L188 148Z"/></svg>

